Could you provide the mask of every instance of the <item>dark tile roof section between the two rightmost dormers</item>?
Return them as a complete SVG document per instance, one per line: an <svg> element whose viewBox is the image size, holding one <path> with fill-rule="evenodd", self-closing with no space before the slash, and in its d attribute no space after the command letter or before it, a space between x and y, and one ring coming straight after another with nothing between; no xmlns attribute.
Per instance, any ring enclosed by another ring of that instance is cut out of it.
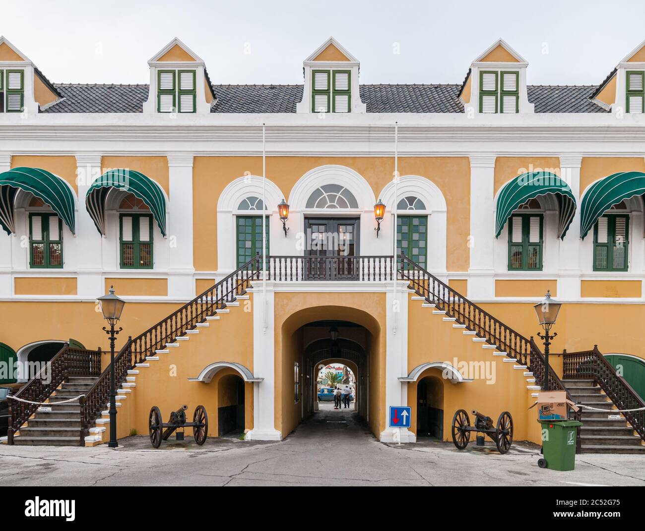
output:
<svg viewBox="0 0 645 531"><path fill-rule="evenodd" d="M590 100L595 85L529 85L528 101L536 113L606 113Z"/></svg>

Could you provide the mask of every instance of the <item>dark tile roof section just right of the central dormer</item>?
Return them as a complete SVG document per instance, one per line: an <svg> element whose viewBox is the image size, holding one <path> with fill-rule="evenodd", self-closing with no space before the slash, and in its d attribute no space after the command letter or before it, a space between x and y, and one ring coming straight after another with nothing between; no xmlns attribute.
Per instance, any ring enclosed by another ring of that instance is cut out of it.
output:
<svg viewBox="0 0 645 531"><path fill-rule="evenodd" d="M361 85L368 113L461 113L459 85Z"/></svg>

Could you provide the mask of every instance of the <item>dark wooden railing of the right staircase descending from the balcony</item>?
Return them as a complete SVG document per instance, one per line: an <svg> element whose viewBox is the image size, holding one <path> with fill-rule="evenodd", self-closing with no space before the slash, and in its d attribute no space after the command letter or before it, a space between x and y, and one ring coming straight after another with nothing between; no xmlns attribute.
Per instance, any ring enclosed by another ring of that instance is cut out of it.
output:
<svg viewBox="0 0 645 531"><path fill-rule="evenodd" d="M422 296L428 303L434 304L438 310L445 311L446 316L455 318L455 322L466 325L466 328L484 338L490 345L496 345L497 349L506 352L509 358L526 366L529 371L533 372L535 382L544 388L544 367L546 365L544 354L532 337L524 337L493 317L482 307L468 300L403 253L397 259L397 263L401 280L410 282L410 289ZM570 392L564 387L562 380L551 366L549 367L549 389L565 391L567 398L573 401ZM575 414L575 418L579 420L580 412ZM577 451L580 450L580 445L580 430L578 430Z"/></svg>

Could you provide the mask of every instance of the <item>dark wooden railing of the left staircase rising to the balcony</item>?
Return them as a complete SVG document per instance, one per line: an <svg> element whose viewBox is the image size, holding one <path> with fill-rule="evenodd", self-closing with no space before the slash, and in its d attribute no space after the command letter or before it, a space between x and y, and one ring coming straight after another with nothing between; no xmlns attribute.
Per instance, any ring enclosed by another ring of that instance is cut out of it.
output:
<svg viewBox="0 0 645 531"><path fill-rule="evenodd" d="M137 363L144 363L157 350L165 349L166 343L191 330L197 323L204 322L218 309L224 309L227 302L233 302L238 295L246 293L253 278L260 276L261 260L256 255L233 273L199 294L190 302L152 325L135 338L130 336L121 351L114 358L114 380L117 385L125 381L128 371ZM115 386L116 387L116 386ZM96 420L110 400L110 364L101 372L99 379L81 400L81 445L88 434L90 424Z"/></svg>

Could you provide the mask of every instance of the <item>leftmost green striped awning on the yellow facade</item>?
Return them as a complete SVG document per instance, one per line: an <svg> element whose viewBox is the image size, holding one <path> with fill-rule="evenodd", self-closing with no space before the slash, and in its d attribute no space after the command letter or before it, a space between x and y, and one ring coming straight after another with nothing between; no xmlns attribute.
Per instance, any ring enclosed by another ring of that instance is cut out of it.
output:
<svg viewBox="0 0 645 531"><path fill-rule="evenodd" d="M60 177L40 168L13 168L0 173L0 226L15 233L14 200L18 189L31 192L76 233L74 192Z"/></svg>

